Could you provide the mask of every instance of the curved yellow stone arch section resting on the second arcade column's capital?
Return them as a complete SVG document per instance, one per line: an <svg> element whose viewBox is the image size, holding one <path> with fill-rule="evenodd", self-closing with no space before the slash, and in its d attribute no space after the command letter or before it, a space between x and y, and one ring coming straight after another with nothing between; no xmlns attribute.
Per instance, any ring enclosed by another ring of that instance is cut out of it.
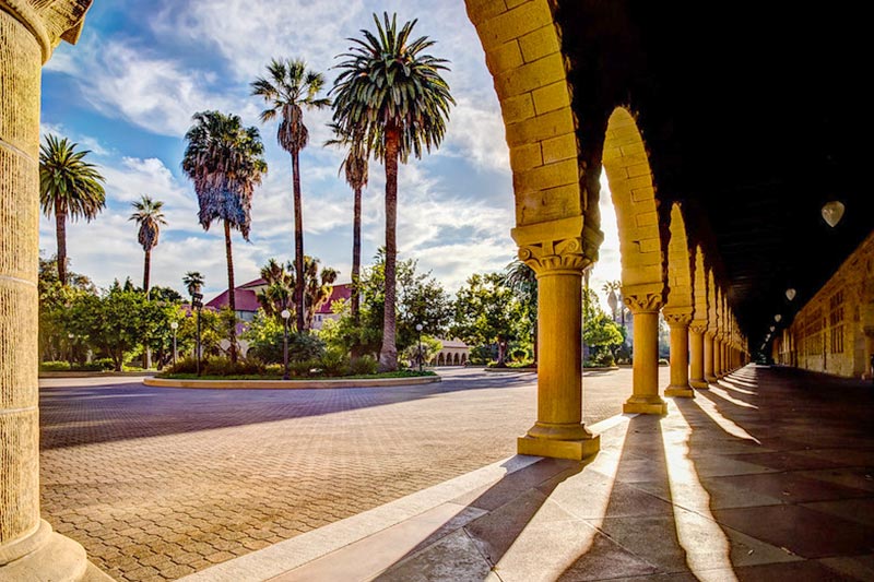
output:
<svg viewBox="0 0 874 582"><path fill-rule="evenodd" d="M617 107L607 121L602 166L619 230L623 295L663 300L664 247L652 169L637 122L624 107ZM685 238L685 226L683 230Z"/></svg>

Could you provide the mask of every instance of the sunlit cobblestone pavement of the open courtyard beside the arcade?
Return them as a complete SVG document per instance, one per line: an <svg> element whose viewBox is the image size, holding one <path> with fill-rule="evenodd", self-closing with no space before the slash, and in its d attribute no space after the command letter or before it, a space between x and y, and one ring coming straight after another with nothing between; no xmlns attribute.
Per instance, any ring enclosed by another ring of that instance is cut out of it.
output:
<svg viewBox="0 0 874 582"><path fill-rule="evenodd" d="M44 380L44 516L118 580L173 580L513 454L535 377L441 375L288 391ZM587 372L586 423L618 414L630 382Z"/></svg>

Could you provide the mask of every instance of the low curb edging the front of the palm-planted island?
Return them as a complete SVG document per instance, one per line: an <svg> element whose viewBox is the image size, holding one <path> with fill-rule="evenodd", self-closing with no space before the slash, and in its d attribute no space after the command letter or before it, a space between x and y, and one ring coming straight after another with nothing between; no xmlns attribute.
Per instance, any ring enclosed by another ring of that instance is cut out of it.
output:
<svg viewBox="0 0 874 582"><path fill-rule="evenodd" d="M155 388L200 388L217 390L307 390L319 388L380 388L433 384L442 381L439 376L413 378L357 378L350 380L175 380L172 378L145 378L143 384Z"/></svg>

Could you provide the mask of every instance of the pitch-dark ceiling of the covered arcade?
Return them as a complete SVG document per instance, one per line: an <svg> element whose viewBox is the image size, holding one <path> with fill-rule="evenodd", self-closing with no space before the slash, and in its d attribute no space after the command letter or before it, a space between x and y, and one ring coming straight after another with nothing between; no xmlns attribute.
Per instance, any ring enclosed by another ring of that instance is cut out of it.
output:
<svg viewBox="0 0 874 582"><path fill-rule="evenodd" d="M582 150L598 149L591 135L614 107L638 115L658 195L681 201L690 236L717 249L752 347L874 229L866 21L841 2L765 4L559 0L556 10ZM830 200L847 207L835 228L820 215Z"/></svg>

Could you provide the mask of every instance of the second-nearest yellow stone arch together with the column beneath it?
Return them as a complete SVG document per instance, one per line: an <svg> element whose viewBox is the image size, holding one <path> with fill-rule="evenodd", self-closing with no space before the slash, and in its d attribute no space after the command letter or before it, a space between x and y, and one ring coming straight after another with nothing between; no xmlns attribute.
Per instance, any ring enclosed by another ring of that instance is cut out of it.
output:
<svg viewBox="0 0 874 582"><path fill-rule="evenodd" d="M664 414L668 407L659 395L658 343L659 310L668 289L659 201L643 139L624 107L614 109L607 120L602 165L619 231L623 301L634 318L634 385L623 411Z"/></svg>

